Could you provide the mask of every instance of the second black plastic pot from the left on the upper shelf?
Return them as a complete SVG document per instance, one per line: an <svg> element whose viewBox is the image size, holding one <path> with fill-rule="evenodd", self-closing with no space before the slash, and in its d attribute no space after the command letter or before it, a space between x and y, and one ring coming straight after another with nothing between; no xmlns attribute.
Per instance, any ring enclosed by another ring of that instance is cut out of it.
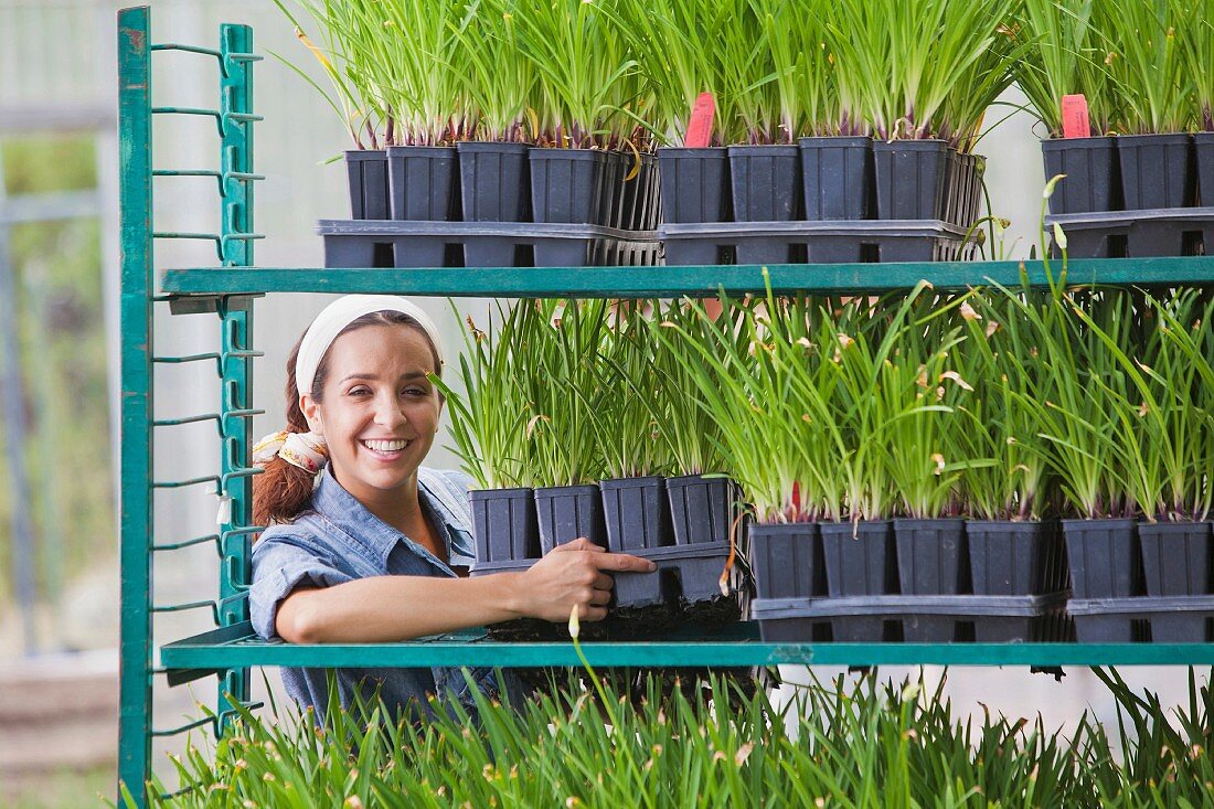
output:
<svg viewBox="0 0 1214 809"><path fill-rule="evenodd" d="M392 219L459 221L459 160L454 147L387 147L387 185Z"/></svg>

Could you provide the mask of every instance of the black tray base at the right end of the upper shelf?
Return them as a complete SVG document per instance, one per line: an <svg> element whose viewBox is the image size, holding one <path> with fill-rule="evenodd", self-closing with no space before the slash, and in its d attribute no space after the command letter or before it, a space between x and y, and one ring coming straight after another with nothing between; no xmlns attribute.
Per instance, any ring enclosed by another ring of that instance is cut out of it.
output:
<svg viewBox="0 0 1214 809"><path fill-rule="evenodd" d="M1050 233L1062 228L1072 259L1204 255L1214 245L1214 207L1059 214L1045 225Z"/></svg>

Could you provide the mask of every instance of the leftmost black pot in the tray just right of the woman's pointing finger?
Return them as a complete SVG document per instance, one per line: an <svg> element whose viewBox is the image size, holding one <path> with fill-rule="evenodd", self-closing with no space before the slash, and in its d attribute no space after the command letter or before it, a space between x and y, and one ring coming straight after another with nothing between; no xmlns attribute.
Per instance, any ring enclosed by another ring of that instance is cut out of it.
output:
<svg viewBox="0 0 1214 809"><path fill-rule="evenodd" d="M826 595L822 537L816 522L751 522L750 567L761 599Z"/></svg>

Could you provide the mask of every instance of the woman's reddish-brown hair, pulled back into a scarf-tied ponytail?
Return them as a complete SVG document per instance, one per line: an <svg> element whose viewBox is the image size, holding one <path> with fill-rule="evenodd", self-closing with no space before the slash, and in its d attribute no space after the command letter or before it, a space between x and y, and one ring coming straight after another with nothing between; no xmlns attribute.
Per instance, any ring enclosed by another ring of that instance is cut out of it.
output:
<svg viewBox="0 0 1214 809"><path fill-rule="evenodd" d="M430 336L421 324L403 312L382 311L371 312L358 317L337 333L337 336L359 329L364 326L409 326L415 328L426 338L433 356L436 373L442 375L442 366L438 362L438 351L431 344ZM334 338L336 340L336 338ZM300 353L300 344L304 335L296 340L291 349L290 357L287 358L287 426L288 432L307 432L307 419L300 409L300 396L295 389L295 361ZM310 391L313 402L320 401L325 379L329 377L329 352L325 351L316 368L316 377L312 379ZM282 458L274 457L266 465L266 471L253 477L253 519L256 525L268 526L273 522L290 522L307 507L312 499L312 490L316 486L316 475L287 463ZM323 474L323 473L322 473Z"/></svg>

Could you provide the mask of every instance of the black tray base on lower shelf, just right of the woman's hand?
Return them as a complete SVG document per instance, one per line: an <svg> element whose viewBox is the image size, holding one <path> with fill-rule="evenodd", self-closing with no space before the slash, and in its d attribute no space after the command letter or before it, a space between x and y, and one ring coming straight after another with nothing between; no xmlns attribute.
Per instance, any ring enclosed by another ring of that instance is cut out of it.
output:
<svg viewBox="0 0 1214 809"><path fill-rule="evenodd" d="M1045 595L756 599L750 616L759 621L762 639L777 643L1050 641L1068 639L1067 595L1060 590Z"/></svg>

